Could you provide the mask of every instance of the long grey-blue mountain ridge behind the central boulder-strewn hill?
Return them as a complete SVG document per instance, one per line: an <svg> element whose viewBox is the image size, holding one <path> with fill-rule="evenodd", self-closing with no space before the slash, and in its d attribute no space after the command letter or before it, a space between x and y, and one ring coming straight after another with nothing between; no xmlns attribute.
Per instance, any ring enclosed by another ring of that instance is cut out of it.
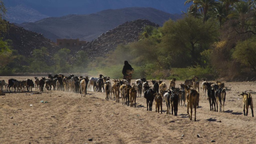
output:
<svg viewBox="0 0 256 144"><path fill-rule="evenodd" d="M162 26L165 21L176 20L180 17L179 14L170 14L153 8L124 8L103 10L88 15L48 17L34 23L22 23L19 26L26 30L43 33L45 37L54 42L60 38L79 38L90 41L127 21L147 19Z"/></svg>

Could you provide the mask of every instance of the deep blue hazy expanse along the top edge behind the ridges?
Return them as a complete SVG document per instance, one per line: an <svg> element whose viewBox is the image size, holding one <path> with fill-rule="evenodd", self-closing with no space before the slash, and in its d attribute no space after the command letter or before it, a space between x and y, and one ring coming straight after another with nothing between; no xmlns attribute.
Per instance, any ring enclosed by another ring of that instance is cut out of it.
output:
<svg viewBox="0 0 256 144"><path fill-rule="evenodd" d="M9 10L17 5L25 5L50 17L91 14L106 9L128 7L151 7L168 13L181 14L181 11L186 11L189 7L184 5L185 0L3 0L3 2Z"/></svg>

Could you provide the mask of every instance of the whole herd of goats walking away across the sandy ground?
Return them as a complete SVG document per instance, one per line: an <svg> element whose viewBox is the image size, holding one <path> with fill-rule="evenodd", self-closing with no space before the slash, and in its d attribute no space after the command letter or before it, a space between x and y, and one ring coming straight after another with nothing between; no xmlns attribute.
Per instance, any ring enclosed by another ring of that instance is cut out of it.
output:
<svg viewBox="0 0 256 144"><path fill-rule="evenodd" d="M146 78L137 79L135 83L129 83L127 80L112 80L113 84L111 84L110 77L99 75L99 78L89 77L88 76L74 76L73 74L69 76L64 76L62 73L56 74L52 76L52 74L48 73L48 78L42 77L39 80L38 77L35 78L35 83L31 79L26 79L23 81L18 81L16 79L9 79L8 85L4 80L0 81L1 90L3 86L5 86L6 90L11 92L14 89L14 92L24 91L25 88L27 91L32 91L32 88L35 87L37 90L38 87L40 91L44 91L47 89L51 91L59 90L71 93L80 93L81 97L85 97L87 94L87 89L93 89L93 91L105 93L105 99L115 98L115 102L119 102L119 95L122 98L122 104L126 104L130 107L136 107L136 97L138 93L138 97L142 96L142 92L144 93L144 98L146 98L147 103L147 111L152 111L153 101L156 102L156 112L159 113L159 109L161 108L162 113L162 102L166 102L167 112L166 114L172 114L174 111L174 115L177 115L178 105L185 107L185 102L187 101L187 113L189 115L190 120L192 120L192 110L193 107L195 109L195 118L196 121L196 109L199 106L199 78L197 76L193 76L190 80L185 80L184 84L179 84L181 89L176 87L176 78L173 78L170 81L169 89L167 89L167 85L159 80L152 80L152 87ZM226 89L224 83L217 81L216 84L212 82L207 82L206 78L202 78L202 88L203 88L203 96L208 96L210 111L218 112L218 103L219 103L219 112L224 112L224 104L226 99ZM214 85L212 85L214 84ZM159 93L160 92L160 93ZM251 93L242 92L240 94L243 96L243 113L244 115L248 115L248 108L251 107L252 116L253 115L253 102ZM182 103L183 101L183 103ZM129 104L130 103L130 104ZM214 109L213 109L214 106ZM216 110L217 107L217 110ZM189 114L190 108L190 114Z"/></svg>

